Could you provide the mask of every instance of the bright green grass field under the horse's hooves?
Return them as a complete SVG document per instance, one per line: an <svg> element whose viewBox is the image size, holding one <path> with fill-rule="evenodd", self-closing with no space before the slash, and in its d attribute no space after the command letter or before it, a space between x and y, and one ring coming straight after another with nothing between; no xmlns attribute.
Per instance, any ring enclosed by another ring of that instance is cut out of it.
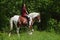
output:
<svg viewBox="0 0 60 40"><path fill-rule="evenodd" d="M0 40L60 40L60 35L45 31L34 31L32 35L23 32L20 33L20 36L12 34L9 37L8 33L0 33Z"/></svg>

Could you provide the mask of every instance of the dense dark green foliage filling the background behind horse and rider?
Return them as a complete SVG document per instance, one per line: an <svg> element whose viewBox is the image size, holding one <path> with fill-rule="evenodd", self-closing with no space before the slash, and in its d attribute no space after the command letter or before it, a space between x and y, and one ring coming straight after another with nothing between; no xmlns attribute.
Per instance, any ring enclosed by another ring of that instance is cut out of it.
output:
<svg viewBox="0 0 60 40"><path fill-rule="evenodd" d="M29 13L41 13L42 30L60 31L60 0L0 0L0 31L7 31L10 18L21 14L23 1Z"/></svg>

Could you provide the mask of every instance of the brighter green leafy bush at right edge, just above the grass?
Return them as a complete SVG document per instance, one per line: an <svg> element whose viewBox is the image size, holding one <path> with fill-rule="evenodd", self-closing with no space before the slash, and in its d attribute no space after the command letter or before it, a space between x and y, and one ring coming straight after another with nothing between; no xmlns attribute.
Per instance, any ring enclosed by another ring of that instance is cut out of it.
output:
<svg viewBox="0 0 60 40"><path fill-rule="evenodd" d="M47 31L60 33L60 22L57 22L57 20L51 18L48 21Z"/></svg>

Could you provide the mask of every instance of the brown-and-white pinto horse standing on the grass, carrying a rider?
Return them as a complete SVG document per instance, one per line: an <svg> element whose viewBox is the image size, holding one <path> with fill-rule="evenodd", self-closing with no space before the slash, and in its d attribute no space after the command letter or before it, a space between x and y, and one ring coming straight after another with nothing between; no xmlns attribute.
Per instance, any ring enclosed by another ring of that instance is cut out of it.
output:
<svg viewBox="0 0 60 40"><path fill-rule="evenodd" d="M31 30L30 34L32 34L32 25L34 23L34 20L37 19L40 22L40 13L30 13L28 14L29 19L29 29ZM9 32L9 36L11 35L11 31L13 29L13 23L15 24L16 28L17 28L17 34L19 35L19 29L21 27L21 25L27 25L27 19L25 17L22 17L21 15L14 15L13 17L10 18L10 32Z"/></svg>

